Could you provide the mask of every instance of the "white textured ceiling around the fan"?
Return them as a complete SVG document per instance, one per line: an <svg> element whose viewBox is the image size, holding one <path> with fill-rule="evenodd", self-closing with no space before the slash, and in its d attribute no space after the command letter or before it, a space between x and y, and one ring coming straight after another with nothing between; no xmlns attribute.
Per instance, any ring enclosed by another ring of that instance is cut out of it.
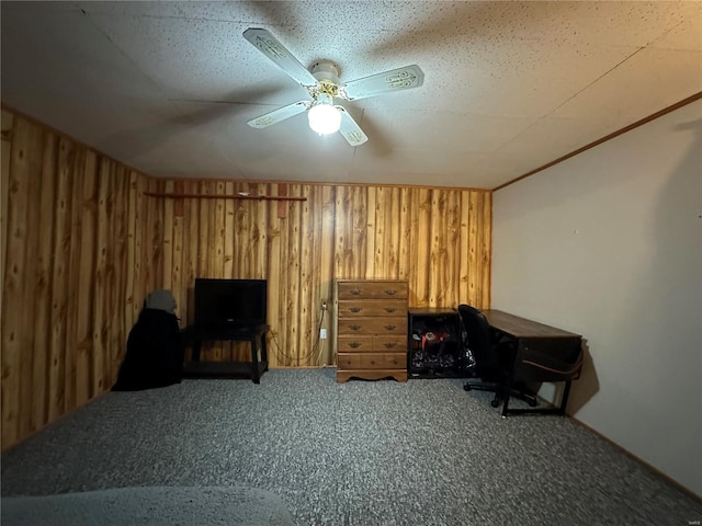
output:
<svg viewBox="0 0 702 526"><path fill-rule="evenodd" d="M494 188L702 91L702 2L9 2L2 103L147 174ZM318 136L249 44L268 28L341 81L422 87L343 105Z"/></svg>

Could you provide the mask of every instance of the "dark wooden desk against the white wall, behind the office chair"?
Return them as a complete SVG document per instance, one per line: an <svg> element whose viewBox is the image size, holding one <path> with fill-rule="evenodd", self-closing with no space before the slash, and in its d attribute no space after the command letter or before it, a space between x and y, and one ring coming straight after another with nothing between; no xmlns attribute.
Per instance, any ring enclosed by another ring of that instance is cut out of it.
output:
<svg viewBox="0 0 702 526"><path fill-rule="evenodd" d="M529 347L548 354L553 357L571 356L581 353L582 336L580 334L528 320L526 318L510 315L509 312L503 312L501 310L484 310L483 315L485 315L488 323L495 331L497 331L499 336L509 338L514 341L518 355L520 351ZM514 375L514 373L516 371L513 370L512 375ZM502 405L502 416L510 413L547 413L564 415L566 412L566 404L568 402L568 393L570 392L571 380L558 379L555 381L565 381L565 388L558 407L509 409L509 398L506 398Z"/></svg>

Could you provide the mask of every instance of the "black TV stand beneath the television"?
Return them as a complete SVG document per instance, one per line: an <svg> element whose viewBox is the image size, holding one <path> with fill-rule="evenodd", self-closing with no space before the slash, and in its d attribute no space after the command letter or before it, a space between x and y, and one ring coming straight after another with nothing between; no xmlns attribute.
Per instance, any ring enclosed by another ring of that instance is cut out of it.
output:
<svg viewBox="0 0 702 526"><path fill-rule="evenodd" d="M183 366L184 378L241 378L250 377L253 384L261 382L268 370L265 333L268 325L190 325L181 331L184 346L192 345L192 359ZM203 341L248 341L251 345L250 362L201 362ZM261 357L259 358L259 351Z"/></svg>

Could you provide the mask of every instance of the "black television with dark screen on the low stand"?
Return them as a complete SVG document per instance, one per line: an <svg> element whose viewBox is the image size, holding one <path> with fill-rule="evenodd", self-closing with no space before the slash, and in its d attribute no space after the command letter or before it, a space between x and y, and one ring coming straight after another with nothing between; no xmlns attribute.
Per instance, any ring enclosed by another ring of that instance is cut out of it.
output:
<svg viewBox="0 0 702 526"><path fill-rule="evenodd" d="M264 325L265 279L195 278L195 324L210 328Z"/></svg>

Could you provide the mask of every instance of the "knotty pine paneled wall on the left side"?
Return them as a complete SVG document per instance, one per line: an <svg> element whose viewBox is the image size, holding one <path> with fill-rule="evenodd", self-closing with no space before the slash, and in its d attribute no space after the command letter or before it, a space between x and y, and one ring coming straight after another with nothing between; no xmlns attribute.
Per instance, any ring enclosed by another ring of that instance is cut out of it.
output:
<svg viewBox="0 0 702 526"><path fill-rule="evenodd" d="M141 264L150 255L147 266L162 267L161 231L141 222L144 213L154 225L161 216L139 209L147 184L2 111L3 449L114 382L128 330L161 277Z"/></svg>

